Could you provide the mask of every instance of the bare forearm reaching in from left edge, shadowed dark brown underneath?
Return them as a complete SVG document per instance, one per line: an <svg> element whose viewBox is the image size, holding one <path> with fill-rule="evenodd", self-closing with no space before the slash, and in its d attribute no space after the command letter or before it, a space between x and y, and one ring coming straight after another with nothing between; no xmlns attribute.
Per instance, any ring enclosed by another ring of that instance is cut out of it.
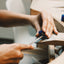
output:
<svg viewBox="0 0 64 64"><path fill-rule="evenodd" d="M0 10L0 26L12 27L31 23L32 16Z"/></svg>

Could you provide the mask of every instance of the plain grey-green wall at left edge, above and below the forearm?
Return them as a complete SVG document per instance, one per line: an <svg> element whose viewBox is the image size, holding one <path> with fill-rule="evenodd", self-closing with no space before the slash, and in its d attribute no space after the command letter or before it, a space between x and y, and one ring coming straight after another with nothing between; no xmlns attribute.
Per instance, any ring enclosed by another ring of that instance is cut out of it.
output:
<svg viewBox="0 0 64 64"><path fill-rule="evenodd" d="M0 0L0 10L6 9L5 3L6 0ZM12 28L2 28L0 27L0 38L9 38L13 39L13 29Z"/></svg>

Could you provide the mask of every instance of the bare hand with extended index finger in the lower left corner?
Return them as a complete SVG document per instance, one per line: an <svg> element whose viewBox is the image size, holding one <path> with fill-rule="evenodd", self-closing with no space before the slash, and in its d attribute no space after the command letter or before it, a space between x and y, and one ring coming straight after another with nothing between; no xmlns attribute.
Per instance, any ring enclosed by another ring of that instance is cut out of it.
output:
<svg viewBox="0 0 64 64"><path fill-rule="evenodd" d="M22 50L33 49L25 44L2 44L0 45L0 64L18 64L23 58Z"/></svg>

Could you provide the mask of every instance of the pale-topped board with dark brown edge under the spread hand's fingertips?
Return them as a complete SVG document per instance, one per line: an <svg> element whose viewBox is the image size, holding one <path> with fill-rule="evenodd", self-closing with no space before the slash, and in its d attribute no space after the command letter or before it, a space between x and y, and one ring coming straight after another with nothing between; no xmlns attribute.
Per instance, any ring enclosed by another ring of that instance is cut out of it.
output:
<svg viewBox="0 0 64 64"><path fill-rule="evenodd" d="M49 39L41 40L39 44L64 45L64 33L53 34Z"/></svg>

